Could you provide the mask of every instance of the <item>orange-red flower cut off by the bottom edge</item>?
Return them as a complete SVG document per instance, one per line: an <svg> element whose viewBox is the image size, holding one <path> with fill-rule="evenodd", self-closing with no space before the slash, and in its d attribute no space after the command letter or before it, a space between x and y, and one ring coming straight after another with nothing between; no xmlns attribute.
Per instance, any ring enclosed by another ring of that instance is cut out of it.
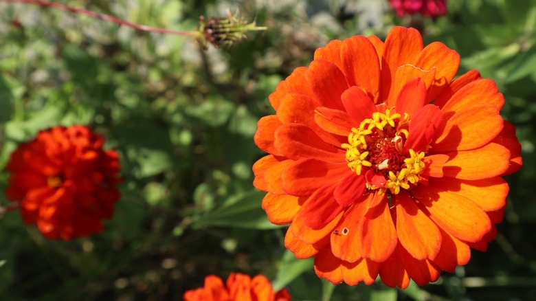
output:
<svg viewBox="0 0 536 301"><path fill-rule="evenodd" d="M287 289L273 293L271 284L263 275L253 279L245 274L231 273L227 278L227 287L221 278L215 275L205 277L205 287L191 289L184 293L184 301L289 301L291 296Z"/></svg>

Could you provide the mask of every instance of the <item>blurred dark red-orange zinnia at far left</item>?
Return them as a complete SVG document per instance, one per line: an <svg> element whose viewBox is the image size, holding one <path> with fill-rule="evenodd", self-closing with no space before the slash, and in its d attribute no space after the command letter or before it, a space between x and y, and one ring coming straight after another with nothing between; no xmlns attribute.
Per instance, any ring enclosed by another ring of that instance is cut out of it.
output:
<svg viewBox="0 0 536 301"><path fill-rule="evenodd" d="M65 241L103 230L120 199L119 156L85 126L41 131L11 155L8 198L20 201L23 221L47 238Z"/></svg>

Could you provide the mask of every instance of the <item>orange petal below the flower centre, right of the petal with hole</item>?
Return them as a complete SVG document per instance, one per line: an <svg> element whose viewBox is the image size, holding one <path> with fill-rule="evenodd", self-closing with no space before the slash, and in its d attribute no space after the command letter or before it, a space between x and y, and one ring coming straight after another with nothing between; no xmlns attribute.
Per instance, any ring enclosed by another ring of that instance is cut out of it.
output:
<svg viewBox="0 0 536 301"><path fill-rule="evenodd" d="M397 230L392 222L386 194L375 193L368 211L357 226L357 235L357 246L364 258L381 263L391 256L397 247Z"/></svg>

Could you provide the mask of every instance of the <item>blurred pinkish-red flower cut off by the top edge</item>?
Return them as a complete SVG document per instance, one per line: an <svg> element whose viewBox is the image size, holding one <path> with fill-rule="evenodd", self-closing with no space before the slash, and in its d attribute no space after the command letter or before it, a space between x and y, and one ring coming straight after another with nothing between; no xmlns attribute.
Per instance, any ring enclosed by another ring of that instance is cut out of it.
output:
<svg viewBox="0 0 536 301"><path fill-rule="evenodd" d="M423 16L443 16L447 14L445 0L389 0L397 16L422 14Z"/></svg>

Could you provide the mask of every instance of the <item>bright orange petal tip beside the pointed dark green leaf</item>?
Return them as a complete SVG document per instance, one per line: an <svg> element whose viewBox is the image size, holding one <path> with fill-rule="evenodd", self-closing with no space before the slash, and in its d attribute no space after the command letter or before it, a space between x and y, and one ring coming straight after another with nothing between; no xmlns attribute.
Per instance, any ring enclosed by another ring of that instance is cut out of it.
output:
<svg viewBox="0 0 536 301"><path fill-rule="evenodd" d="M287 225L292 223L305 198L289 194L267 193L263 199L263 209L271 223Z"/></svg>

